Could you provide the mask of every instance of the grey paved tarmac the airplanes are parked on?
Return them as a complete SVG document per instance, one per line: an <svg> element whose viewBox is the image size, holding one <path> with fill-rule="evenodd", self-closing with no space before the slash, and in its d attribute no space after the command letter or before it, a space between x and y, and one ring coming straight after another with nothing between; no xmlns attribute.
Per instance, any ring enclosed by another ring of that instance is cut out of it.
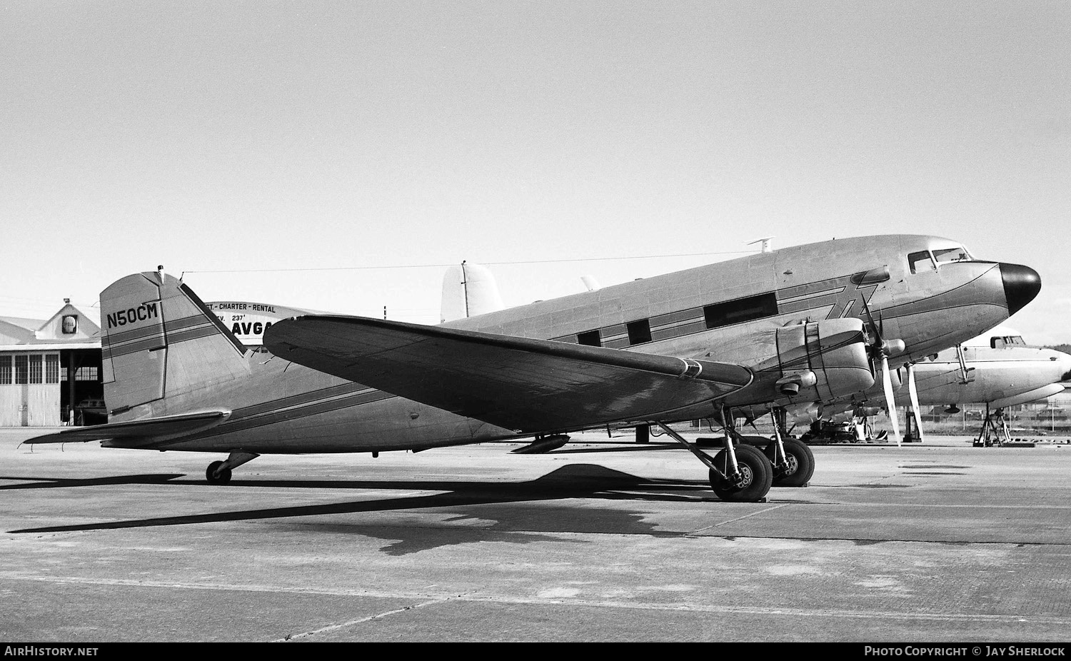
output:
<svg viewBox="0 0 1071 661"><path fill-rule="evenodd" d="M42 432L0 430L0 642L1071 641L1065 444L818 446L750 504L664 437L212 486L221 454L19 445Z"/></svg>

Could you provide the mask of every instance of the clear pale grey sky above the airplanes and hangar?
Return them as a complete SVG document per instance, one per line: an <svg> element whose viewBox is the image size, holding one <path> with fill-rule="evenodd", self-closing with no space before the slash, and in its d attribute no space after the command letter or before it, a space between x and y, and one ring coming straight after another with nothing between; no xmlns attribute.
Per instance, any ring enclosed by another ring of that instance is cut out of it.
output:
<svg viewBox="0 0 1071 661"><path fill-rule="evenodd" d="M1071 2L0 0L0 316L139 271L436 322L834 237L1023 264L1071 343Z"/></svg>

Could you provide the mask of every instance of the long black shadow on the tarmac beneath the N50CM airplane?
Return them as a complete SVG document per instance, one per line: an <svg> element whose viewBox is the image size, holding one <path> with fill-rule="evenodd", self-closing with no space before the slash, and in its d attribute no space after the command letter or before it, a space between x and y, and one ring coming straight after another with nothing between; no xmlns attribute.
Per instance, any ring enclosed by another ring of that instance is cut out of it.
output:
<svg viewBox="0 0 1071 661"><path fill-rule="evenodd" d="M172 476L137 476L141 479L105 479L97 483L155 483L170 480ZM145 480L145 478L159 478ZM57 481L60 482L60 481ZM71 486L81 486L82 481L70 480ZM170 483L175 483L171 481ZM60 486L51 483L48 486ZM17 485L24 486L24 485ZM30 487L31 485L25 485ZM283 507L209 514L181 514L153 519L136 519L70 526L45 526L21 528L10 532L62 532L77 530L107 530L117 528L138 528L147 526L175 526L198 523L221 523L228 521L251 521L286 519L295 516L317 516L330 514L351 514L358 512L389 512L399 510L451 509L479 505L523 504L570 498L600 498L606 500L649 500L649 501L714 501L720 500L709 491L706 482L693 480L648 480L603 466L577 464L563 466L545 476L528 482L457 482L457 481L240 481L216 489L247 486L320 486L325 489L371 489L371 490L428 490L444 493L404 498L386 498L333 502L299 507ZM639 494L635 492L640 492ZM629 492L629 493L622 493Z"/></svg>

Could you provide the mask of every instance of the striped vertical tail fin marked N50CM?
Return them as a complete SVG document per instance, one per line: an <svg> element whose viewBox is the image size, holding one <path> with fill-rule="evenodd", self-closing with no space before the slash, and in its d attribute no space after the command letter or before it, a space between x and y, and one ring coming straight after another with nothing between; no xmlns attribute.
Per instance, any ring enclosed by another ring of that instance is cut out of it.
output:
<svg viewBox="0 0 1071 661"><path fill-rule="evenodd" d="M101 292L104 400L109 411L248 374L245 349L178 279L127 275Z"/></svg>

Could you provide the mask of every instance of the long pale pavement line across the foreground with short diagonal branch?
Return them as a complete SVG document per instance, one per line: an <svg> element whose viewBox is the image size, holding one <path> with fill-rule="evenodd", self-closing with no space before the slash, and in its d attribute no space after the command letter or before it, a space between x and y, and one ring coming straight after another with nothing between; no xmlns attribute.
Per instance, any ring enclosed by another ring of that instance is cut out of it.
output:
<svg viewBox="0 0 1071 661"><path fill-rule="evenodd" d="M432 605L436 603L447 603L450 601L472 601L472 602L491 602L491 603L512 603L512 604L545 604L545 605L569 605L569 606L590 606L597 609L621 609L629 611L682 611L682 612L693 612L693 613L712 613L712 614L754 614L754 615L788 615L795 617L851 617L857 619L894 619L894 620L934 620L934 621L987 621L987 622L1023 622L1029 621L1035 624L1047 624L1047 625L1066 625L1071 627L1071 616L1059 617L1059 616L1024 616L1019 613L1007 613L1007 614L981 614L981 613L940 613L940 612L892 612L892 611L860 611L860 610L845 610L845 609L798 609L798 607L778 607L769 605L709 605L709 604L681 604L681 603L651 603L651 602L633 602L624 603L620 601L600 601L600 600L582 600L582 599L543 599L543 598L531 598L531 597L508 597L501 595L473 595L473 594L453 594L444 595L441 597L432 597L429 595L423 594L411 594L411 592L388 592L384 590L345 590L345 589L330 589L330 588L302 588L302 587L287 587L287 586L265 586L265 585L212 585L205 583L165 583L165 582L154 582L154 581L133 581L133 580L122 580L122 579L81 579L75 576L26 576L18 575L16 572L0 572L0 577L10 580L22 580L22 581L41 581L46 583L85 583L91 585L124 585L130 587L156 587L156 588L185 588L185 589L206 589L206 590L236 590L236 591L258 591L258 592L300 592L306 595L331 595L331 596L349 596L349 597L376 597L376 598L387 598L387 599L426 599L427 601L418 603L416 605L404 606L402 609L395 609L393 611L388 611L386 613L380 613L377 615L368 616L360 620L352 620L344 625L333 625L332 627L341 628L344 626L350 626L353 624L359 624L361 621L369 621L376 619L377 617L382 617L386 615L391 615L395 613L401 613L404 611L410 611L414 607L420 607L424 605ZM331 629L325 628L325 631ZM295 636L291 636L291 639ZM286 639L280 639L281 641Z"/></svg>

